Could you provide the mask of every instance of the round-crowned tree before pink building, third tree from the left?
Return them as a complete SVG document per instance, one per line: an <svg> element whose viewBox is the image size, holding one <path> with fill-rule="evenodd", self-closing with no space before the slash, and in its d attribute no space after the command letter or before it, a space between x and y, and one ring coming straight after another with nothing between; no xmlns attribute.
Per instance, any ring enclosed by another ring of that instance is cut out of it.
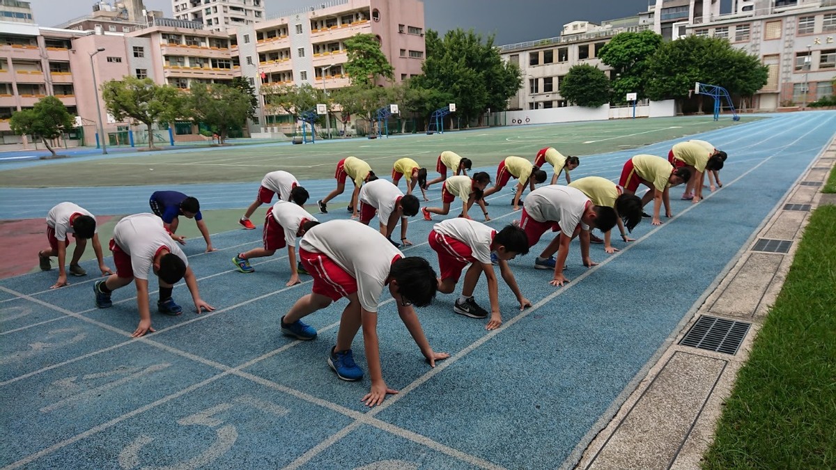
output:
<svg viewBox="0 0 836 470"><path fill-rule="evenodd" d="M241 129L252 112L252 95L225 84L195 84L186 99L191 119L217 130L221 143L230 129Z"/></svg>

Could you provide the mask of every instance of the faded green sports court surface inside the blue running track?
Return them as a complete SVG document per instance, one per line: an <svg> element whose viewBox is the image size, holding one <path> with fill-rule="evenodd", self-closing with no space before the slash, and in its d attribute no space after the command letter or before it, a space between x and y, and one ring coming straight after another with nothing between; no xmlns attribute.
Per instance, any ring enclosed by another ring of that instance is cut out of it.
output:
<svg viewBox="0 0 836 470"><path fill-rule="evenodd" d="M334 165L346 156L368 161L381 176L392 163L409 156L435 171L441 151L455 151L475 166L496 166L510 155L533 159L543 147L557 147L563 155L586 156L693 135L729 125L745 125L762 118L745 116L741 122L711 120L706 116L610 120L557 125L507 126L443 135L406 135L392 139L349 139L292 146L229 146L156 154L139 154L89 161L68 158L49 166L0 171L0 186L131 186L260 180L268 171L287 170L299 179L334 176Z"/></svg>

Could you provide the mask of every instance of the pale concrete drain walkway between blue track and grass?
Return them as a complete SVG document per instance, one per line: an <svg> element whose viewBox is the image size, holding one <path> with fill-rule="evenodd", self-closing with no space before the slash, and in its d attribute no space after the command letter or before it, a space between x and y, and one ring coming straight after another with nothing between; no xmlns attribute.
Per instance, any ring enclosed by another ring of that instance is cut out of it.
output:
<svg viewBox="0 0 836 470"><path fill-rule="evenodd" d="M793 263L803 227L820 204L836 204L836 195L820 193L836 161L831 140L803 176L790 188L772 217L742 248L716 281L716 289L692 308L681 328L636 375L625 393L630 396L612 420L583 452L576 468L699 468L713 439L722 405L731 395L737 371L745 364L752 341L766 319ZM768 253L756 246L761 239L790 243L788 253ZM736 354L680 345L691 327L704 316L751 324ZM635 389L630 391L629 389ZM584 440L585 442L585 440Z"/></svg>

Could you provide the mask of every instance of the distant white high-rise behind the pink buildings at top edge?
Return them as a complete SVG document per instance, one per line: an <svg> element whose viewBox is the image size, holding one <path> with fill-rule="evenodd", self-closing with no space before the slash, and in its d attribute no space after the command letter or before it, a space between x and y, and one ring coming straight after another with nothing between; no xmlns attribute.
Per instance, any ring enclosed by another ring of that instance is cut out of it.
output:
<svg viewBox="0 0 836 470"><path fill-rule="evenodd" d="M264 20L266 0L171 0L174 18L222 30Z"/></svg>

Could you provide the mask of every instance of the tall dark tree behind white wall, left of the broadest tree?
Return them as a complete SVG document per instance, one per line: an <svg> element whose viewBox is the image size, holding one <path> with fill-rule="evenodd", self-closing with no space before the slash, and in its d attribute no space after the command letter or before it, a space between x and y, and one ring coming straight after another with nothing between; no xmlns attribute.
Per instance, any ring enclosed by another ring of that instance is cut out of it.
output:
<svg viewBox="0 0 836 470"><path fill-rule="evenodd" d="M647 98L650 57L662 44L662 37L650 29L640 33L619 33L604 45L598 57L612 68L613 101L624 103L628 93L638 94L639 100Z"/></svg>

